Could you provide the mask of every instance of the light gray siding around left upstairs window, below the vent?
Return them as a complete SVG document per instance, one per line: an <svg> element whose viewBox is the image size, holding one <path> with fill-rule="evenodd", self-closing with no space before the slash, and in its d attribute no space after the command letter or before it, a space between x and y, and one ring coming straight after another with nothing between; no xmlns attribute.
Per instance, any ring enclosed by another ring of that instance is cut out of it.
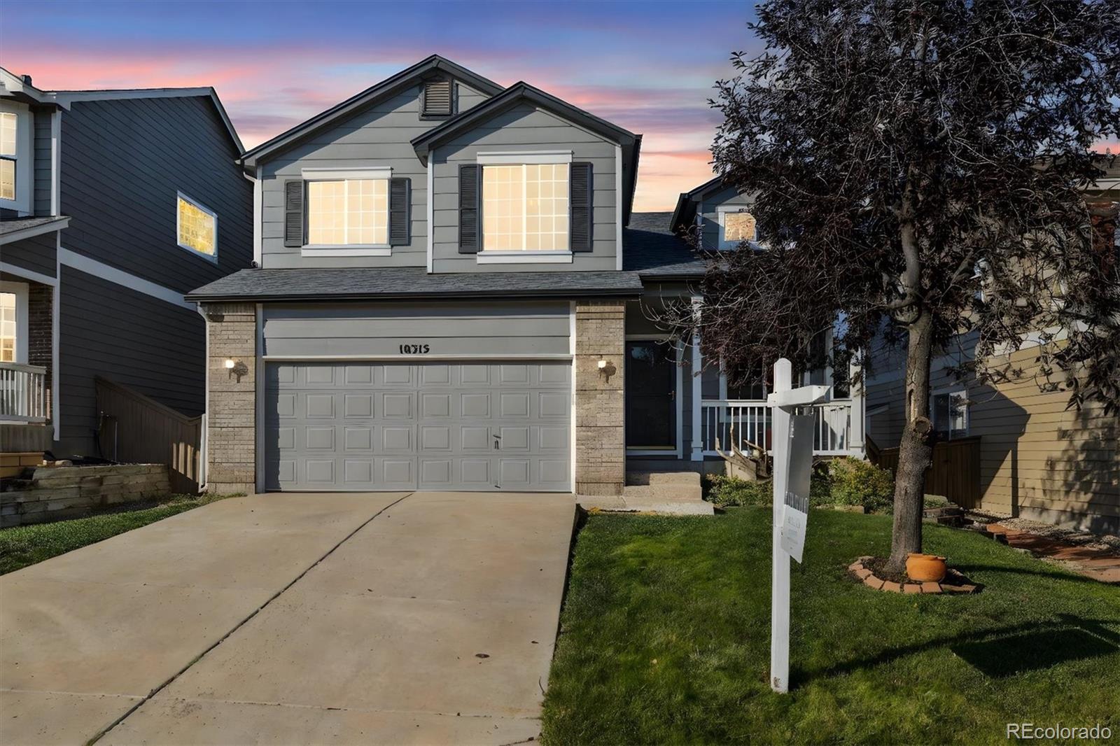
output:
<svg viewBox="0 0 1120 746"><path fill-rule="evenodd" d="M486 99L461 83L456 85L458 110ZM419 83L374 104L326 132L273 157L262 165L262 267L424 267L428 262L428 170L411 140L442 123L420 119ZM391 257L302 257L283 245L283 183L299 178L304 168L392 168L394 177L410 179L411 230L408 245L393 246Z"/></svg>

